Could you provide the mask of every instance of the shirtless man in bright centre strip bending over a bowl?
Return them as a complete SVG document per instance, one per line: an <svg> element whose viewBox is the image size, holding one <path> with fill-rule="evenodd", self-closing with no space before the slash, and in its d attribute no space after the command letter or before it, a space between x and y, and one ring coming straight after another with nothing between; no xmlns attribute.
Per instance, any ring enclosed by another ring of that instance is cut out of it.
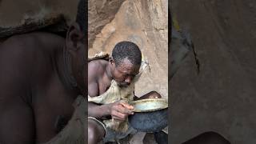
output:
<svg viewBox="0 0 256 144"><path fill-rule="evenodd" d="M109 142L134 133L127 126L133 114L128 102L142 98L161 98L151 91L134 96L134 82L138 78L142 54L133 42L118 42L109 61L98 59L88 64L88 143ZM126 93L126 94L125 94Z"/></svg>

